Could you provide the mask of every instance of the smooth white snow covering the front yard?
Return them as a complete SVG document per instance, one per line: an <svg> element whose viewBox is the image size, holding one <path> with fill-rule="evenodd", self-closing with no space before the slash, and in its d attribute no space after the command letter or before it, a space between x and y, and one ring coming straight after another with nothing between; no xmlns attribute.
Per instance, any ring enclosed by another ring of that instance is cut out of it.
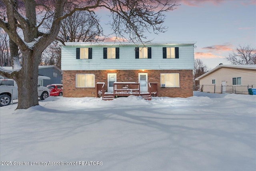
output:
<svg viewBox="0 0 256 171"><path fill-rule="evenodd" d="M1 171L256 170L256 95L39 104L0 107Z"/></svg>

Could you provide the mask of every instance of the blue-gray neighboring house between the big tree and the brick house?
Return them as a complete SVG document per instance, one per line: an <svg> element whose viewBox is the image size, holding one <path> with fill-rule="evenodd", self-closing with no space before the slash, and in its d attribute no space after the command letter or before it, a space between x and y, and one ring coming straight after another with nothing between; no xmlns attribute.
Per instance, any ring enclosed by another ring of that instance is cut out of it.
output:
<svg viewBox="0 0 256 171"><path fill-rule="evenodd" d="M62 84L62 71L56 66L38 66L38 75L50 78L50 80L46 80L38 77L38 84L42 86L47 86L49 84Z"/></svg>

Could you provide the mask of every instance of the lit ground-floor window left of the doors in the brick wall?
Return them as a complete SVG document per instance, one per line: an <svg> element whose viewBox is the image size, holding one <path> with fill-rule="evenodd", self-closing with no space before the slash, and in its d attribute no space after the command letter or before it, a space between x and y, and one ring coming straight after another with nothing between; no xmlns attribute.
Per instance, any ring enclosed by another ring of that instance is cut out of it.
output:
<svg viewBox="0 0 256 171"><path fill-rule="evenodd" d="M95 87L94 74L76 74L76 87Z"/></svg>

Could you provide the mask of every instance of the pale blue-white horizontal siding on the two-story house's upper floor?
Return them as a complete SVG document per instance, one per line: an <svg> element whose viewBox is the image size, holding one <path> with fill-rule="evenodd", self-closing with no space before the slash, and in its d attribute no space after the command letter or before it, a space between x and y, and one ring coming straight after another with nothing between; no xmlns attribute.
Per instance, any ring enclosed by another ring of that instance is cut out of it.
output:
<svg viewBox="0 0 256 171"><path fill-rule="evenodd" d="M135 59L134 46L119 48L119 59L103 59L109 46L62 46L62 70L182 70L194 68L194 45L148 46L151 59ZM110 46L113 47L113 46ZM178 59L163 59L163 47L179 47ZM92 59L76 59L76 48L92 48Z"/></svg>

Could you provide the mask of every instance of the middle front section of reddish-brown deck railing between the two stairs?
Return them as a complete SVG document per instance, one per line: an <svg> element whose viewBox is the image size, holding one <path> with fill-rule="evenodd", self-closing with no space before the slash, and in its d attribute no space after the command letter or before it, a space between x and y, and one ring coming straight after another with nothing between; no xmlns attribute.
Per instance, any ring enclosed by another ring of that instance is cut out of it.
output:
<svg viewBox="0 0 256 171"><path fill-rule="evenodd" d="M115 96L129 96L140 95L140 83L135 82L115 82L114 83L114 97Z"/></svg>

